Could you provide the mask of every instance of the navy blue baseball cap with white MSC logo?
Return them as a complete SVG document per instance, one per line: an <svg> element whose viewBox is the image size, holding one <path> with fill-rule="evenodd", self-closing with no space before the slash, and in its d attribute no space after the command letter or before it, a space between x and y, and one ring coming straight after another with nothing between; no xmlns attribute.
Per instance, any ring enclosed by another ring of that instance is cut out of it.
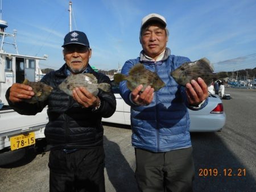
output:
<svg viewBox="0 0 256 192"><path fill-rule="evenodd" d="M68 44L80 44L86 47L90 47L87 36L81 31L71 31L64 37L64 44L61 47L65 47Z"/></svg>

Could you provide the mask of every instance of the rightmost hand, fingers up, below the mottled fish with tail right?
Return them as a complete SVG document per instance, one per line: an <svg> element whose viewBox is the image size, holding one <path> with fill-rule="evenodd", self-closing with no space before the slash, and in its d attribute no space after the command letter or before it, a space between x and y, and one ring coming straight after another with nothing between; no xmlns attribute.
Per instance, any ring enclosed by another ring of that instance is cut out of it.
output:
<svg viewBox="0 0 256 192"><path fill-rule="evenodd" d="M191 84L186 84L186 93L188 96L188 103L190 105L197 105L208 98L208 86L202 78L197 78L197 81L192 80Z"/></svg>

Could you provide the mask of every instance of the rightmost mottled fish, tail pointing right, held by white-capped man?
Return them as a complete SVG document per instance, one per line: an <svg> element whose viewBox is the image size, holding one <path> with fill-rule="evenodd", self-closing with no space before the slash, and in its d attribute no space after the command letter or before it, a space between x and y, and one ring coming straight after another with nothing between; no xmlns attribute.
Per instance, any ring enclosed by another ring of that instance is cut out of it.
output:
<svg viewBox="0 0 256 192"><path fill-rule="evenodd" d="M190 83L191 80L197 80L201 77L205 84L210 86L213 82L213 79L225 78L228 77L228 73L220 72L213 73L213 68L210 66L210 61L205 57L203 59L185 62L180 65L179 68L171 72L171 76L174 77L177 84L185 86L187 83Z"/></svg>

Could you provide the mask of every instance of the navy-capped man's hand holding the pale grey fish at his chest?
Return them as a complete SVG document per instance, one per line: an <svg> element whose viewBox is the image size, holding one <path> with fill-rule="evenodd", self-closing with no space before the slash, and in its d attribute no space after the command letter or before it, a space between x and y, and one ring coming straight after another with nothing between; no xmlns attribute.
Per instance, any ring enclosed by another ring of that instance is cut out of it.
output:
<svg viewBox="0 0 256 192"><path fill-rule="evenodd" d="M100 105L100 98L94 96L85 87L76 87L73 89L73 98L85 108Z"/></svg>

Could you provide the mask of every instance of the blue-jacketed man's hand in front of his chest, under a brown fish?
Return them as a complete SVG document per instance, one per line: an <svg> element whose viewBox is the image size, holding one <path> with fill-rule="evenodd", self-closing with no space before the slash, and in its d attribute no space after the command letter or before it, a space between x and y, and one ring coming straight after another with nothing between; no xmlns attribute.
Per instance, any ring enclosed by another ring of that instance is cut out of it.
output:
<svg viewBox="0 0 256 192"><path fill-rule="evenodd" d="M154 97L154 89L147 86L141 93L143 85L139 85L131 92L131 100L137 105L149 105Z"/></svg>

